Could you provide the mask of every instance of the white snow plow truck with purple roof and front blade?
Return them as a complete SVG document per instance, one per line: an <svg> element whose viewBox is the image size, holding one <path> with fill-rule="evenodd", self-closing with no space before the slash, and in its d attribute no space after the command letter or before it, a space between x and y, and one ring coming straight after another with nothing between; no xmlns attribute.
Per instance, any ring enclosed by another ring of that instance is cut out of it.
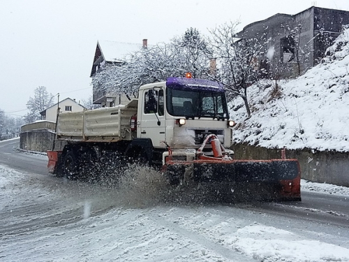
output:
<svg viewBox="0 0 349 262"><path fill-rule="evenodd" d="M300 201L298 161L234 159L234 125L220 82L168 78L142 85L125 105L57 114L56 139L66 145L47 151L48 169L77 177L89 163L120 156L158 166L169 184L219 183Z"/></svg>

